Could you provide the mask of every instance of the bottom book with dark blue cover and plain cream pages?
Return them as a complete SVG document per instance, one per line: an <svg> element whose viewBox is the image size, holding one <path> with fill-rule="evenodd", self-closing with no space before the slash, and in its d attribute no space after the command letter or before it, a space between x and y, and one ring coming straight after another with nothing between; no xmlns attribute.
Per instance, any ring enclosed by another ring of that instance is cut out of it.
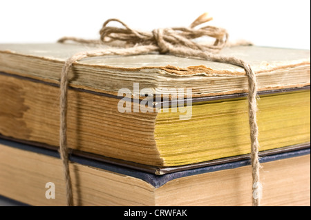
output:
<svg viewBox="0 0 311 220"><path fill-rule="evenodd" d="M70 157L75 206L249 206L249 160L164 175ZM310 147L261 157L262 206L310 206ZM57 151L0 139L0 195L66 206Z"/></svg>

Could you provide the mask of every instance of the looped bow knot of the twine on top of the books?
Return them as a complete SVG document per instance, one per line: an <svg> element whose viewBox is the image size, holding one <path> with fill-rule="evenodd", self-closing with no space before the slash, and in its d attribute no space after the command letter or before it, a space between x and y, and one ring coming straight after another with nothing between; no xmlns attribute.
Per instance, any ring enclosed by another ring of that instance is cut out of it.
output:
<svg viewBox="0 0 311 220"><path fill-rule="evenodd" d="M119 19L109 19L103 24L100 30L100 40L104 43L123 41L130 46L158 46L158 52L161 54L172 53L171 48L184 48L186 50L192 49L215 53L225 47L228 39L227 31L214 26L196 28L196 26L211 20L212 18L208 17L207 13L204 13L192 22L189 28L158 28L152 32L143 32L129 28L126 23ZM123 27L108 26L111 21L116 21ZM216 40L211 45L193 41L199 37L212 37Z"/></svg>

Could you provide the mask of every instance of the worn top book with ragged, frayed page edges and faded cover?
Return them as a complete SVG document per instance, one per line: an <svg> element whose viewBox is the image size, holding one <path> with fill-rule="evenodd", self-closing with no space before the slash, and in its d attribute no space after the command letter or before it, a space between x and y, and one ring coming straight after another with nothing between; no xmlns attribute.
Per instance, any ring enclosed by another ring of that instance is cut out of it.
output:
<svg viewBox="0 0 311 220"><path fill-rule="evenodd" d="M74 44L0 45L0 70L23 77L59 83L64 61L76 52L109 48ZM257 46L224 48L219 53L247 61L258 74L258 91L310 85L310 51ZM191 88L193 97L247 92L245 70L225 63L147 54L92 57L78 61L70 73L70 86L117 95L122 88Z"/></svg>

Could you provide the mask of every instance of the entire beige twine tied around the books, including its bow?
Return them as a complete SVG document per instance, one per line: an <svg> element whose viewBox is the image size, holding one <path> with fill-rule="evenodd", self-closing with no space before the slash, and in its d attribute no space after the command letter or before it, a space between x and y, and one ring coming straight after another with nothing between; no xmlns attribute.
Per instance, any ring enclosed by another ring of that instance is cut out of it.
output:
<svg viewBox="0 0 311 220"><path fill-rule="evenodd" d="M108 26L111 21L120 23L123 28ZM244 68L248 79L248 114L251 141L251 163L252 163L252 205L260 206L262 186L260 183L259 170L261 168L258 158L258 126L256 120L257 112L257 83L256 74L248 63L235 57L225 57L218 55L221 49L226 46L229 34L223 28L214 26L204 26L196 28L202 23L211 21L208 14L202 14L189 28L158 28L152 32L142 32L129 28L119 19L107 20L100 30L100 40L85 40L75 37L63 37L59 43L75 41L77 43L123 43L124 48L101 49L90 52L78 52L66 60L60 78L60 130L59 146L62 163L64 166L64 177L66 180L66 197L68 206L73 206L73 190L70 179L68 146L67 146L67 94L68 94L68 72L73 63L86 57L101 56L129 56L138 54L150 54L158 52L160 54L172 54L178 57L192 57L206 61L216 61L229 63ZM213 44L196 43L193 39L208 36L215 39Z"/></svg>

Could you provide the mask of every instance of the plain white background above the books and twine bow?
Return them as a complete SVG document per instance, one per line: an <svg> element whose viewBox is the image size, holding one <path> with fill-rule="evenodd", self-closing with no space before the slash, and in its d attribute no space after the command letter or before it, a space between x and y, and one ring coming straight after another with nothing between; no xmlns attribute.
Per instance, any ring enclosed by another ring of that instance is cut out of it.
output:
<svg viewBox="0 0 311 220"><path fill-rule="evenodd" d="M226 28L232 40L310 49L310 0L1 0L0 43L98 39L109 18L139 30L189 26L203 12L214 17L209 25Z"/></svg>

